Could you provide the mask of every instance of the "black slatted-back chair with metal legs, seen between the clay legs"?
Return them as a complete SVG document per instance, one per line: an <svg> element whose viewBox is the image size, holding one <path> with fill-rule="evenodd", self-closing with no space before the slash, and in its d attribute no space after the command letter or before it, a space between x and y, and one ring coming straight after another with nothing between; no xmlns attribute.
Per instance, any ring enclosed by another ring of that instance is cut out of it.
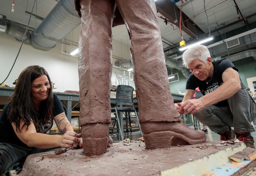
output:
<svg viewBox="0 0 256 176"><path fill-rule="evenodd" d="M130 107L123 107L123 106L130 106ZM118 85L117 89L116 89L116 107L115 108L111 108L111 112L115 112L115 119L117 123L118 123L118 129L119 129L119 135L121 137L121 140L123 140L123 131L121 130L121 124L120 124L120 119L118 116L118 112L125 112L125 122L126 122L126 132L125 134L132 134L132 133L141 133L141 127L139 124L139 119L137 116L137 112L136 109L134 108L133 105L133 87L131 86L126 86L126 85ZM132 128L136 128L136 127L131 127L131 117L130 117L130 112L134 112L136 115L136 119L138 122L138 128L139 131L138 132L132 132ZM128 120L129 120L129 127L128 127ZM121 121L123 122L123 121ZM123 123L122 123L123 125ZM114 127L114 126L113 126ZM130 132L129 132L130 131Z"/></svg>

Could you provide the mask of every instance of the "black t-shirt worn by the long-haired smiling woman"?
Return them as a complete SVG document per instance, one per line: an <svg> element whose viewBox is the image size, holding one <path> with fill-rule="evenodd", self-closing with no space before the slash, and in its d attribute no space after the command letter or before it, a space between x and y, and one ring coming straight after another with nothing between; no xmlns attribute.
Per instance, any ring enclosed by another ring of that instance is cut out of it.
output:
<svg viewBox="0 0 256 176"><path fill-rule="evenodd" d="M54 99L53 117L55 117L56 115L63 113L64 109L62 107L60 99L57 97L56 94L53 94L53 99ZM21 142L17 137L17 135L15 134L11 124L12 122L10 122L7 119L9 104L10 102L5 104L3 111L0 115L0 143L10 143L10 144L15 144L15 145L19 145L27 148L28 146L23 142ZM47 133L47 131L49 131L52 127L53 117L46 124L39 125L39 129L36 129L37 133Z"/></svg>

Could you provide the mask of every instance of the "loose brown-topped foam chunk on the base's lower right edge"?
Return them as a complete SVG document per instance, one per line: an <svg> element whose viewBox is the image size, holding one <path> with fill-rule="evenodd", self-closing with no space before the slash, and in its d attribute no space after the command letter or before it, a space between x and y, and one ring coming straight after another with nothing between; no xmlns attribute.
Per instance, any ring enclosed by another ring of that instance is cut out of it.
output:
<svg viewBox="0 0 256 176"><path fill-rule="evenodd" d="M228 158L236 162L241 162L243 160L250 161L249 157L255 153L256 153L256 150L254 148L246 147L242 151L239 151L236 154L229 156Z"/></svg>

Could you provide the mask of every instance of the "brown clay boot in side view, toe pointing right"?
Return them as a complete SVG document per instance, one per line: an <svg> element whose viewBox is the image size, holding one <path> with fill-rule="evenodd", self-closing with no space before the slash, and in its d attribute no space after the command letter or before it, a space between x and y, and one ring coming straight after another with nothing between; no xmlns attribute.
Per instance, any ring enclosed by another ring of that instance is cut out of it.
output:
<svg viewBox="0 0 256 176"><path fill-rule="evenodd" d="M144 122L140 125L146 149L198 144L206 140L205 132L189 128L183 122Z"/></svg>

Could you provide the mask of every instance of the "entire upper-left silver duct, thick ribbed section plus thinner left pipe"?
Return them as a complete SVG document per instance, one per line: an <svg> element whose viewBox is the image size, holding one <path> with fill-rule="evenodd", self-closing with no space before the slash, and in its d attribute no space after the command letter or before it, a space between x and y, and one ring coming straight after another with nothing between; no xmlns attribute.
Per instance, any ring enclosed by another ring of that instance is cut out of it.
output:
<svg viewBox="0 0 256 176"><path fill-rule="evenodd" d="M60 0L30 35L27 32L24 43L35 49L48 51L54 48L67 34L81 24L73 0ZM7 23L7 34L22 41L25 28L14 22Z"/></svg>

